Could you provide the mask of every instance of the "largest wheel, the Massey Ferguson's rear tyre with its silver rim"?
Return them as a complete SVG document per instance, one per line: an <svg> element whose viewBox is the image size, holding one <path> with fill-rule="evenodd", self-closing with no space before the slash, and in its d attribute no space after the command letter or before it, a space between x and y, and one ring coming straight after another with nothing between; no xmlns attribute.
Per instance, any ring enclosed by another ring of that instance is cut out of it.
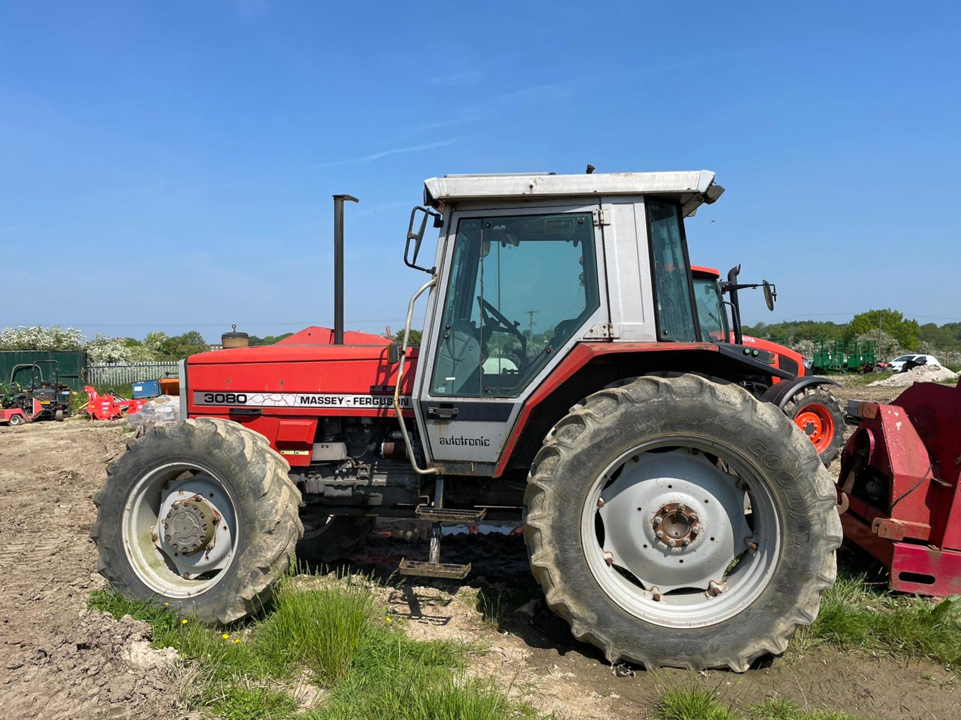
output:
<svg viewBox="0 0 961 720"><path fill-rule="evenodd" d="M524 537L554 612L607 660L729 667L781 653L835 578L831 478L774 405L701 376L640 377L560 420Z"/></svg>

